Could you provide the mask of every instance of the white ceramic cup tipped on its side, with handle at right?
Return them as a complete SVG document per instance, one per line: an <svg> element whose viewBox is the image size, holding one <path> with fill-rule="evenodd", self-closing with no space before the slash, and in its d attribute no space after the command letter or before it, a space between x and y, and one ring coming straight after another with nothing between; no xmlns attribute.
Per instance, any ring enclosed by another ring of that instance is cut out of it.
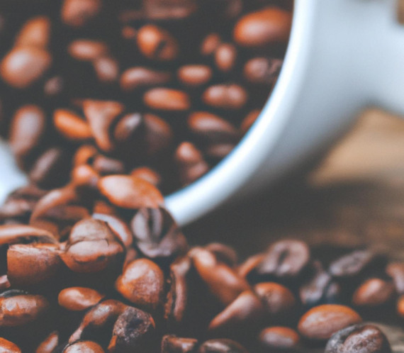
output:
<svg viewBox="0 0 404 353"><path fill-rule="evenodd" d="M404 114L404 26L395 0L295 0L291 39L269 101L217 167L167 196L181 224L252 194L352 125L364 106ZM0 198L26 178L0 148Z"/></svg>

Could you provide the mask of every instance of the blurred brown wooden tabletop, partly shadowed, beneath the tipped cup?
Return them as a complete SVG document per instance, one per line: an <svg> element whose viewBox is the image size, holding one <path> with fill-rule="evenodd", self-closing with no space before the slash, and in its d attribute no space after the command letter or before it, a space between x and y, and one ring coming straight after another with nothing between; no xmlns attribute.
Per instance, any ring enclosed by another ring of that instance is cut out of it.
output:
<svg viewBox="0 0 404 353"><path fill-rule="evenodd" d="M368 244L404 259L404 121L376 109L364 112L310 173L216 211L185 232L193 244L231 244L241 257L294 237L314 245ZM386 328L394 352L404 352L400 326Z"/></svg>

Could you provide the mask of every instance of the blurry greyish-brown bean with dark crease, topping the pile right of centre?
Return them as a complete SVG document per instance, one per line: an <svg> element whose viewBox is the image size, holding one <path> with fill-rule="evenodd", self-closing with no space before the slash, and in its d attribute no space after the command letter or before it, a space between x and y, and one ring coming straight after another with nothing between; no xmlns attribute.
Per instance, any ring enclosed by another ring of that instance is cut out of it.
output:
<svg viewBox="0 0 404 353"><path fill-rule="evenodd" d="M310 249L300 240L280 240L266 252L257 273L276 278L296 277L308 266Z"/></svg>

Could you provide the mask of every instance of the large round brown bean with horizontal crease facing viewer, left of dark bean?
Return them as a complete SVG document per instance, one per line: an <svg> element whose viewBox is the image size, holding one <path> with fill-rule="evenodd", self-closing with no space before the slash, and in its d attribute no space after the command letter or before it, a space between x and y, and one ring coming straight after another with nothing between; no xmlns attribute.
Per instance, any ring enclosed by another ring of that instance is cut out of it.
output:
<svg viewBox="0 0 404 353"><path fill-rule="evenodd" d="M72 271L94 273L123 257L123 245L105 222L89 218L74 225L60 257Z"/></svg>

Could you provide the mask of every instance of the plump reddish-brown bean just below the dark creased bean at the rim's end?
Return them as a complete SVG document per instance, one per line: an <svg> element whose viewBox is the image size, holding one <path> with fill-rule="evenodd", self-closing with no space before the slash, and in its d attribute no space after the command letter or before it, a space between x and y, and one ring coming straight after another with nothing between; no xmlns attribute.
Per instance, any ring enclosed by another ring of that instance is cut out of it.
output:
<svg viewBox="0 0 404 353"><path fill-rule="evenodd" d="M135 259L123 269L116 280L116 290L131 303L147 310L162 305L164 274L157 264L148 259Z"/></svg>

